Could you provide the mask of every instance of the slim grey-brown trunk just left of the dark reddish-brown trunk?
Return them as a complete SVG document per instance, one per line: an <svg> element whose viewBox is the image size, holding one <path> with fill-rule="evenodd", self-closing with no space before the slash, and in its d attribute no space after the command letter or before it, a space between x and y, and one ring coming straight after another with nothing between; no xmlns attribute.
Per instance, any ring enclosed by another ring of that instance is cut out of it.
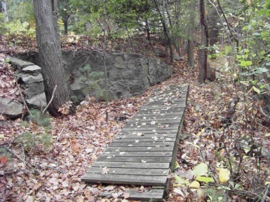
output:
<svg viewBox="0 0 270 202"><path fill-rule="evenodd" d="M194 25L195 25L195 7L196 0L192 0L190 3L191 13L189 17L189 30L187 40L187 64L190 68L194 67Z"/></svg>

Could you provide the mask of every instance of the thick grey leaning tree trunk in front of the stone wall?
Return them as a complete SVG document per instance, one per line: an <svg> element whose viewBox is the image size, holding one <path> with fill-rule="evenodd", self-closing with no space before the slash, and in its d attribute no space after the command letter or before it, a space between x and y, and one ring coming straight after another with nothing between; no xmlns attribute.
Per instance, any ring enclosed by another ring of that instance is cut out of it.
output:
<svg viewBox="0 0 270 202"><path fill-rule="evenodd" d="M47 103L53 96L53 89L57 85L53 101L48 107L51 115L61 114L58 109L68 101L69 90L65 80L64 64L60 45L60 33L57 16L57 0L34 0L34 17L36 19L36 41L41 57L42 75ZM74 112L74 108L69 110Z"/></svg>

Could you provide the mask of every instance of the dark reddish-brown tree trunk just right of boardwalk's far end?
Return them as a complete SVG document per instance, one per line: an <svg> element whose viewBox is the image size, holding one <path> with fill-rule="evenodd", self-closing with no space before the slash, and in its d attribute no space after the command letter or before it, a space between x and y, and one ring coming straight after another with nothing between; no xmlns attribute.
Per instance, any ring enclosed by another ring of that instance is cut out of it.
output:
<svg viewBox="0 0 270 202"><path fill-rule="evenodd" d="M203 83L207 79L207 47L208 47L208 26L205 22L205 3L200 0L200 21L201 21L201 45L198 51L198 82Z"/></svg>

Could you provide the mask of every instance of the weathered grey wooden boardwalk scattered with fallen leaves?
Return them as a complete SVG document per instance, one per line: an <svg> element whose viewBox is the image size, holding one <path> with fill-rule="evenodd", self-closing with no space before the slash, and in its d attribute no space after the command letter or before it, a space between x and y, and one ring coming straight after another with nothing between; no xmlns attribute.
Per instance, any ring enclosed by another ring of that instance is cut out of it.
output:
<svg viewBox="0 0 270 202"><path fill-rule="evenodd" d="M162 201L168 189L167 176L175 167L187 91L188 87L168 86L151 92L81 180L151 186L149 192L130 192L128 199ZM108 174L102 173L104 168L109 169Z"/></svg>

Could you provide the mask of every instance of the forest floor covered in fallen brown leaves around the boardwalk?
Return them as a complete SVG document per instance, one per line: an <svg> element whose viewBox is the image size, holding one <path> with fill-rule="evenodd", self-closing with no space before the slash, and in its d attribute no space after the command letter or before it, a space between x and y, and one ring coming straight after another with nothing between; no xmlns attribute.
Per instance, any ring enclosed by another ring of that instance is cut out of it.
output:
<svg viewBox="0 0 270 202"><path fill-rule="evenodd" d="M63 41L62 48L69 50L102 47L85 37ZM119 40L114 41L118 45L109 43L108 50L156 57L156 50L163 50L157 41L149 45L143 38ZM32 38L17 36L1 39L0 50L0 96L20 101L14 69L4 61L16 52L36 50L36 45ZM222 69L225 61L210 64ZM168 176L173 180L165 201L269 201L270 122L260 110L262 102L227 71L199 85L197 66L191 69L184 60L175 62L173 70L172 78L158 85L188 84L189 97L179 166ZM80 178L126 123L119 117L133 117L155 87L141 96L109 102L107 123L104 103L93 98L81 103L76 115L50 117L49 128L0 115L0 201L128 201L120 199L127 196L128 186L88 185ZM103 190L114 192L114 198L98 198Z"/></svg>

